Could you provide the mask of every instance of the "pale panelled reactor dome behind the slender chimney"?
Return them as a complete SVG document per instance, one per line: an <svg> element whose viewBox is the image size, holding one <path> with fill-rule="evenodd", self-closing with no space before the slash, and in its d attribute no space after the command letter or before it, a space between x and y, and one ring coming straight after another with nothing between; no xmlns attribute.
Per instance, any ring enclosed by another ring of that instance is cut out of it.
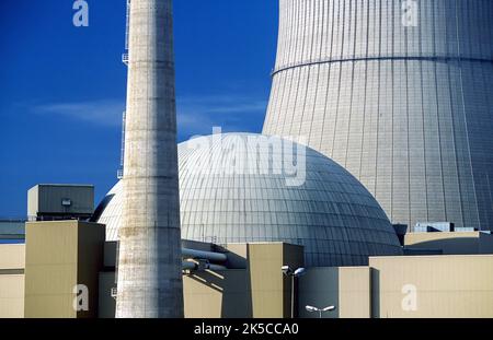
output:
<svg viewBox="0 0 493 340"><path fill-rule="evenodd" d="M279 146L280 145L280 146ZM286 242L306 265L359 266L401 255L393 227L368 190L321 153L277 137L214 134L179 145L182 238L217 244ZM117 239L118 183L95 213Z"/></svg>

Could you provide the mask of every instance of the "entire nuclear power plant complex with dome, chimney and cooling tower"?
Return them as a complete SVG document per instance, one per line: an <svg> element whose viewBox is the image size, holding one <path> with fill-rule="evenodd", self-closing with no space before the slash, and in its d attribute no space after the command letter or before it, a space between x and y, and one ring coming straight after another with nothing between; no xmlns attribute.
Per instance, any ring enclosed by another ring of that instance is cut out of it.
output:
<svg viewBox="0 0 493 340"><path fill-rule="evenodd" d="M493 317L489 1L280 0L264 134L179 145L172 1L128 5L122 180L0 221L0 318Z"/></svg>

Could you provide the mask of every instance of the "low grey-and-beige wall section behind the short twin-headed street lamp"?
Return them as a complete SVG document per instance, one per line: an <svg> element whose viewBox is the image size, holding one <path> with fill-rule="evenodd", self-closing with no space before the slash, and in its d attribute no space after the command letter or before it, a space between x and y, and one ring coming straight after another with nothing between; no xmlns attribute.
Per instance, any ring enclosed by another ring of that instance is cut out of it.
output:
<svg viewBox="0 0 493 340"><path fill-rule="evenodd" d="M299 316L317 318L306 306L324 308L323 318L369 318L371 313L370 269L368 267L310 268L299 280Z"/></svg>

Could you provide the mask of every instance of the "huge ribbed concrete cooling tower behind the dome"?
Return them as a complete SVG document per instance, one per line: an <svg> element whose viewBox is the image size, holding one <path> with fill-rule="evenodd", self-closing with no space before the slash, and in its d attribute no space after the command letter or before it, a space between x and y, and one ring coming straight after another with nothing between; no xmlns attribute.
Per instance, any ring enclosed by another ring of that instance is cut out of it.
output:
<svg viewBox="0 0 493 340"><path fill-rule="evenodd" d="M280 0L264 133L305 136L398 223L493 228L493 1Z"/></svg>

